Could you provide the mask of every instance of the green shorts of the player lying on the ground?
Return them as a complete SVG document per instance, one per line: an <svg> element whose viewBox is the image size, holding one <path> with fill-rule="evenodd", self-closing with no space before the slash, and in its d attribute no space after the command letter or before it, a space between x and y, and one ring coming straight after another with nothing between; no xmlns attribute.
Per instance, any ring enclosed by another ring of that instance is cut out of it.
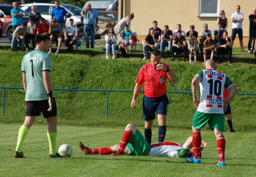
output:
<svg viewBox="0 0 256 177"><path fill-rule="evenodd" d="M139 130L136 130L131 137L130 143L127 144L130 153L127 155L144 155L147 156L151 150L151 145L145 140Z"/></svg>

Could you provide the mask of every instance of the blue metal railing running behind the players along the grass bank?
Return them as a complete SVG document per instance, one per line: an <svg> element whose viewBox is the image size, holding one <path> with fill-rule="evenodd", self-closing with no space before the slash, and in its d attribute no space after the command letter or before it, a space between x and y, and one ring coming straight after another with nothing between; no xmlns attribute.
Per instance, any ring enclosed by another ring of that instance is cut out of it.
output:
<svg viewBox="0 0 256 177"><path fill-rule="evenodd" d="M23 87L2 87L3 89L3 115L4 115L4 104L5 104L5 89L24 89ZM91 90L91 89L71 89L71 88L53 88L53 90L63 90L63 91L105 91L106 92L106 118L108 118L108 102L109 102L109 92L133 92L133 90ZM143 91L140 91L143 92ZM167 91L171 94L192 94L191 91ZM200 94L200 92L197 92ZM237 95L256 95L254 93L237 93Z"/></svg>

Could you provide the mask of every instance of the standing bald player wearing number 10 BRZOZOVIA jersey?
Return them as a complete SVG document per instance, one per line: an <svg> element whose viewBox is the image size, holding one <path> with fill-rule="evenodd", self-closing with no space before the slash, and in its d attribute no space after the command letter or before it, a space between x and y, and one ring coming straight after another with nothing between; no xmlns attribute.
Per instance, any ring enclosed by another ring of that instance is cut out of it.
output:
<svg viewBox="0 0 256 177"><path fill-rule="evenodd" d="M208 123L209 128L214 130L217 139L217 151L219 154L219 162L217 165L226 165L224 158L226 141L222 133L224 131L225 122L223 110L227 109L227 104L235 96L237 88L224 73L217 71L216 68L214 60L207 60L204 69L196 73L191 83L194 106L197 110L192 124L194 156L186 158L187 162L201 163L200 130ZM198 82L201 91L201 100L197 97ZM230 94L223 102L224 87L230 91Z"/></svg>

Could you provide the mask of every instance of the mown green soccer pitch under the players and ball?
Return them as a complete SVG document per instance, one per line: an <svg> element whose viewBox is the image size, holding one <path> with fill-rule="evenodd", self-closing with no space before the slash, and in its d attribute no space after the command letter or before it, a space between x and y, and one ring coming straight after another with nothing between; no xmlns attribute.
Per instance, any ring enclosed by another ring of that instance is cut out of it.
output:
<svg viewBox="0 0 256 177"><path fill-rule="evenodd" d="M21 125L21 124L20 124ZM220 167L216 139L212 131L203 131L202 140L208 143L202 152L201 164L185 159L142 156L82 155L77 142L90 148L119 144L125 127L100 128L57 126L57 147L70 144L70 158L48 157L47 125L33 125L23 144L25 159L15 159L20 125L0 124L0 176L255 176L256 133L224 132L226 163ZM139 128L143 132L143 128ZM152 129L152 142L157 142L158 128ZM165 141L183 144L192 135L190 130L167 128Z"/></svg>

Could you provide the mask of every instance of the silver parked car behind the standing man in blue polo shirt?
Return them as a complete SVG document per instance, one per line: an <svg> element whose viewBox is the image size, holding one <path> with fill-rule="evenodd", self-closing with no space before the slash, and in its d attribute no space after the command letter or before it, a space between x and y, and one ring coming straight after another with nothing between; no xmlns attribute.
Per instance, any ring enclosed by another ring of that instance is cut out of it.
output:
<svg viewBox="0 0 256 177"><path fill-rule="evenodd" d="M36 11L40 12L41 16L50 21L51 20L51 12L55 8L54 4L50 3L30 3L30 4L20 4L20 8L24 11L30 13L31 6L36 6ZM66 21L66 26L69 25L69 19L72 18L74 20L74 25L78 27L78 36L82 38L84 36L83 26L81 24L81 14L82 9L80 7L71 5L71 4L61 4L61 7L64 7L68 12L68 18ZM98 28L95 29L95 39L100 39L101 35L105 35L108 31L108 28L115 27L116 21L109 17L98 17Z"/></svg>

